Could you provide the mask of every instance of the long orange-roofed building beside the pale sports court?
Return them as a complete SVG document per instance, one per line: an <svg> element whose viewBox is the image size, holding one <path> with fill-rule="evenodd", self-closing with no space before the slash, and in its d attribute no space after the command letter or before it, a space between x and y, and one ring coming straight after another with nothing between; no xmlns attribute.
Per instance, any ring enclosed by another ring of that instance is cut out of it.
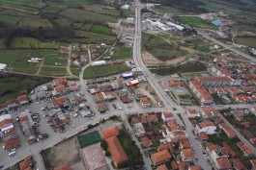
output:
<svg viewBox="0 0 256 170"><path fill-rule="evenodd" d="M116 167L120 163L128 161L128 156L116 136L108 137L105 141Z"/></svg>

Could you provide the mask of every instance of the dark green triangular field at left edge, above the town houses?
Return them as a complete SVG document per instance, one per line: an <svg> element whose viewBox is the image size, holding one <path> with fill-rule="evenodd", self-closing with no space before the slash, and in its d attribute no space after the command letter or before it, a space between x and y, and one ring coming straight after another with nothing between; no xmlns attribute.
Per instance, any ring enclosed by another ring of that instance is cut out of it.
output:
<svg viewBox="0 0 256 170"><path fill-rule="evenodd" d="M5 74L0 75L0 104L9 99L15 99L19 92L27 90L28 92L38 85L50 82L51 79L43 77Z"/></svg>

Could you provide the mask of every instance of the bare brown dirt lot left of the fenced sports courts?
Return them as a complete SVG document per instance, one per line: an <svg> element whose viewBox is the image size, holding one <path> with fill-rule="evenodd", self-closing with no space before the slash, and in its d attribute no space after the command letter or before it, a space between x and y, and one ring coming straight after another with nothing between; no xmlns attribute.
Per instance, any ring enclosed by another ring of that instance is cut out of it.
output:
<svg viewBox="0 0 256 170"><path fill-rule="evenodd" d="M68 161L71 164L71 169L85 169L79 156L79 145L75 137L52 147L48 159L54 167Z"/></svg>

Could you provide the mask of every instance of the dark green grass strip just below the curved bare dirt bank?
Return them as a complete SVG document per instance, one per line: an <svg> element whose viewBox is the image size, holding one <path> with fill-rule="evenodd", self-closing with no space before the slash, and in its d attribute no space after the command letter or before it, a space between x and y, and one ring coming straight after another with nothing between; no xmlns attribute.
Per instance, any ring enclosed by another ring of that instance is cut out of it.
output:
<svg viewBox="0 0 256 170"><path fill-rule="evenodd" d="M206 71L207 66L201 62L197 61L188 61L185 64L178 65L175 67L169 68L158 68L151 69L151 72L156 73L157 75L166 76L174 73L189 73L189 72L198 72L198 71Z"/></svg>

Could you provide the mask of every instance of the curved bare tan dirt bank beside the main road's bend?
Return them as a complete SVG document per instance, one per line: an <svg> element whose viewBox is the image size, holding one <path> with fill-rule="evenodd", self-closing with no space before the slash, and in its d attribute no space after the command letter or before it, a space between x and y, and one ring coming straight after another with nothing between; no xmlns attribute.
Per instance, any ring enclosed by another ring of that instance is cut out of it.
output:
<svg viewBox="0 0 256 170"><path fill-rule="evenodd" d="M176 58L176 59L171 60L171 61L159 61L152 54L150 54L149 52L143 52L142 53L142 59L143 59L144 63L147 66L154 66L154 65L157 65L157 64L175 65L178 62L185 61L185 57Z"/></svg>

